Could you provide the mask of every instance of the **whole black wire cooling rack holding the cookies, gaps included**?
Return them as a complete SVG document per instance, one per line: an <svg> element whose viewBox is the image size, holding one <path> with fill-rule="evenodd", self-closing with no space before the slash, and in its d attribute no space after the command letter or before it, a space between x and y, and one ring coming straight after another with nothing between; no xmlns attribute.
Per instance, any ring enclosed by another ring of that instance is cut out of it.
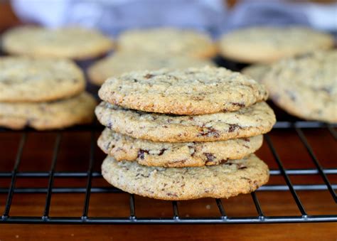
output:
<svg viewBox="0 0 337 241"><path fill-rule="evenodd" d="M215 59L215 62L232 70L244 67L219 58ZM80 65L86 68L89 63ZM97 89L90 85L88 87L88 90L95 95ZM274 105L272 108L277 114L278 122L272 132L264 135L263 150L257 153L258 156L262 155L260 157L263 157L262 159L269 165L271 180L251 194L238 196L243 198L243 201L235 198L228 200L208 198L207 201L200 199L193 200L192 203L158 201L124 193L107 185L100 173L100 164L105 156L96 144L97 137L102 132L102 127L97 121L92 125L51 132L0 128L0 224L337 222L337 125L304 122L287 115ZM284 135L286 132L287 135ZM306 132L312 132L311 140L308 139ZM36 135L37 138L31 138ZM313 135L320 136L321 140L318 143L316 141L314 146ZM73 145L74 140L69 141L72 136L79 136L75 142L80 142L80 147ZM290 136L289 139L285 138L287 136ZM66 144L63 144L65 142ZM296 148L290 148L291 146ZM317 146L320 149L316 149ZM35 149L38 151L34 152ZM64 151L65 149L68 151ZM328 165L326 160L319 158L321 155L317 155L318 150L320 154L324 154L324 159L328 159ZM31 154L32 152L35 155ZM266 156L267 152L269 156ZM284 155L287 152L289 153ZM41 156L41 153L44 155ZM77 157L74 157L76 155ZM307 156L305 161L310 164L299 165L300 167L294 165L304 163L302 160L304 155ZM60 165L60 161L65 161L65 164ZM76 165L72 165L73 162ZM289 163L292 163L291 168L286 168ZM73 169L58 168L69 165ZM301 181L302 177L305 181ZM279 181L273 181L274 179ZM306 193L304 198L309 197L311 202L303 202L304 199L301 198L303 192ZM321 192L325 194L322 195ZM263 196L264 193L267 193L267 196ZM95 195L99 195L99 198L95 198ZM53 201L56 196L59 198ZM77 196L79 198L71 199ZM288 198L282 200L285 196ZM315 199L317 196L319 200ZM31 202L39 205L38 213L29 212L30 208L35 208L35 204ZM288 203L294 204L291 212L287 210ZM17 205L20 205L20 210L16 208ZM194 210L200 212L192 215L188 209L190 205L195 205ZM243 213L233 212L236 210L235 205L239 205L238 208L243 210ZM275 207L279 212L270 212ZM319 208L325 208L325 211L320 212ZM95 210L100 212L97 213Z"/></svg>

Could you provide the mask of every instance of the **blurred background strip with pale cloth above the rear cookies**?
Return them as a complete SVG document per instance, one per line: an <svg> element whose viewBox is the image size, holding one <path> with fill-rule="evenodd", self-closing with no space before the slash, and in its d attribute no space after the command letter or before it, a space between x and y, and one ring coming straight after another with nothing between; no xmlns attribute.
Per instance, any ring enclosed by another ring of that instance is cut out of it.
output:
<svg viewBox="0 0 337 241"><path fill-rule="evenodd" d="M0 1L0 31L20 23L80 25L110 36L128 28L175 26L213 37L253 25L311 26L337 32L337 2L244 0L13 0Z"/></svg>

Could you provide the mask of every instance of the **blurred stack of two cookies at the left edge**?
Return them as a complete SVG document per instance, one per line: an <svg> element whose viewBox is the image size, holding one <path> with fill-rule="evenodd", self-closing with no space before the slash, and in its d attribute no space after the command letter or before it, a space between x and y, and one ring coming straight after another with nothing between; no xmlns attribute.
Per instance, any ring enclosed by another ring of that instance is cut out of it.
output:
<svg viewBox="0 0 337 241"><path fill-rule="evenodd" d="M0 58L0 126L58 129L91 122L95 99L71 60Z"/></svg>

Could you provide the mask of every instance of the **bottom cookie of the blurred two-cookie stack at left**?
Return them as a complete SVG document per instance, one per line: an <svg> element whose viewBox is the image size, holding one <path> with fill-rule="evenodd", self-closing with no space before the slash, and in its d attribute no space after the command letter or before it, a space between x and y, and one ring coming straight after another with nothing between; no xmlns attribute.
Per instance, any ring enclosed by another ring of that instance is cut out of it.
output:
<svg viewBox="0 0 337 241"><path fill-rule="evenodd" d="M96 101L88 93L53 102L0 102L0 126L11 129L60 129L92 122Z"/></svg>

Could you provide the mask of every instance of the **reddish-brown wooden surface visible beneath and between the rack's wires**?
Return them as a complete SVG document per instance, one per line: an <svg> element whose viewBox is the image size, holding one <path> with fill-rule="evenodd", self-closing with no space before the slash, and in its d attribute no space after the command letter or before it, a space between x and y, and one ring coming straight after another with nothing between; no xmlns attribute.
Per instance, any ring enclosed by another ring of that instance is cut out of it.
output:
<svg viewBox="0 0 337 241"><path fill-rule="evenodd" d="M0 4L0 31L18 23L8 4ZM96 137L99 132L97 132ZM324 168L336 168L337 143L326 129L308 129L304 134ZM54 132L30 132L19 171L49 171ZM285 168L314 168L314 164L294 130L273 130L270 134ZM11 171L21 133L0 132L0 171ZM56 171L87 171L90 132L65 132L60 144ZM257 155L269 168L277 168L266 143ZM100 171L104 154L95 149L95 171ZM294 184L323 183L319 175L290 176ZM337 183L337 175L328 175ZM10 178L0 178L0 188L8 188ZM55 187L85 187L86 178L55 178ZM282 176L271 176L269 184L284 185ZM48 186L48 178L18 178L16 187ZM109 186L102 178L93 178L92 186ZM337 205L328 191L298 191L309 215L337 214ZM0 213L6 203L0 194ZM258 191L264 215L300 215L288 191ZM84 193L53 193L50 216L79 217ZM46 193L15 193L10 215L41 216ZM222 200L228 216L256 216L252 197L241 195ZM135 196L137 217L172 217L171 202ZM178 202L181 217L218 216L214 199ZM90 217L129 216L129 195L126 193L92 193ZM0 240L337 240L337 223L293 223L267 225L0 225Z"/></svg>

